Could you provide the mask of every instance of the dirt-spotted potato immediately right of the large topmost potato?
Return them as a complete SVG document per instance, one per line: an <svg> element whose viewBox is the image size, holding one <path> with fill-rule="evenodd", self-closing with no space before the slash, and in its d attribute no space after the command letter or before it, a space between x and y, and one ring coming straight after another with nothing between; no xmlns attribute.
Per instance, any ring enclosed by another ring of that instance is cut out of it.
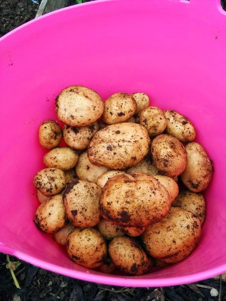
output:
<svg viewBox="0 0 226 301"><path fill-rule="evenodd" d="M136 111L136 102L128 93L115 93L104 104L102 120L107 124L115 124L130 119Z"/></svg>

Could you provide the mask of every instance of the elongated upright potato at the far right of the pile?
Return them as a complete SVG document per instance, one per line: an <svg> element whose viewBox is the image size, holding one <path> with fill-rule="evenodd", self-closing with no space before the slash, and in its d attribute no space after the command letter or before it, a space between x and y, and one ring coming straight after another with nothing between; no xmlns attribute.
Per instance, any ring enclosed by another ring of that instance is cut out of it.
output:
<svg viewBox="0 0 226 301"><path fill-rule="evenodd" d="M208 187L212 179L211 161L204 148L197 142L188 143L185 149L188 159L181 180L190 191L201 192Z"/></svg>

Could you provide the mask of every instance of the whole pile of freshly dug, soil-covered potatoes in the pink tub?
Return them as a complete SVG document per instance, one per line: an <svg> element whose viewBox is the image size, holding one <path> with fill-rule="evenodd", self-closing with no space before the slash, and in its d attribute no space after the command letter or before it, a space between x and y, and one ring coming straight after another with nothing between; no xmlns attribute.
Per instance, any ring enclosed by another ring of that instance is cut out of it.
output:
<svg viewBox="0 0 226 301"><path fill-rule="evenodd" d="M80 85L62 90L55 108L63 129L54 120L39 127L50 151L34 178L37 228L77 264L104 273L140 275L186 258L205 219L199 192L213 172L189 119L149 107L145 93L104 103Z"/></svg>

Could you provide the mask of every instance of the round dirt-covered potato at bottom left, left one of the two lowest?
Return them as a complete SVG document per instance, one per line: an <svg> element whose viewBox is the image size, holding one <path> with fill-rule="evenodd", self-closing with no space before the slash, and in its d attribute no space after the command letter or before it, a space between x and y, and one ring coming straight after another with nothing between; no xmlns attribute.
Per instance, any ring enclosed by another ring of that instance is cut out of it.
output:
<svg viewBox="0 0 226 301"><path fill-rule="evenodd" d="M67 253L80 266L95 269L107 257L107 245L99 231L92 228L75 229L67 237Z"/></svg>

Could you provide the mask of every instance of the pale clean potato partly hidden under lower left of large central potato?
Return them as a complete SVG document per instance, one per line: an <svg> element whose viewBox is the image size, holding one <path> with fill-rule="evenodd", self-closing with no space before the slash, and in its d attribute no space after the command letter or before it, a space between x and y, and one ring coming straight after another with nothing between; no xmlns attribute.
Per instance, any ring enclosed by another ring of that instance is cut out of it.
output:
<svg viewBox="0 0 226 301"><path fill-rule="evenodd" d="M87 157L87 152L84 152L79 156L75 170L81 180L96 182L103 173L110 169L106 166L93 165Z"/></svg>

